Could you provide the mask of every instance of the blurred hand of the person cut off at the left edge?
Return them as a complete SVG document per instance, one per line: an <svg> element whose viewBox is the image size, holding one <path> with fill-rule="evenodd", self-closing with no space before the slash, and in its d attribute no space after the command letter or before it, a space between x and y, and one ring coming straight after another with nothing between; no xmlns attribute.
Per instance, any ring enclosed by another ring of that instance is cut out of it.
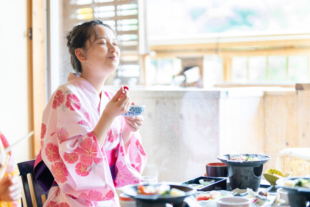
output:
<svg viewBox="0 0 310 207"><path fill-rule="evenodd" d="M14 201L21 197L21 185L17 176L4 176L0 181L0 201Z"/></svg>

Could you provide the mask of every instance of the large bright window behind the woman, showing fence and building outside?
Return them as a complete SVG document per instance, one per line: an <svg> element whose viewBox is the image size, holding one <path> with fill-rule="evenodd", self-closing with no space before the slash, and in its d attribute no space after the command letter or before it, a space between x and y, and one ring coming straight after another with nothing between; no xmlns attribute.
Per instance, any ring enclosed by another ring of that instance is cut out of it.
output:
<svg viewBox="0 0 310 207"><path fill-rule="evenodd" d="M307 92L295 90L310 81L308 1L194 2L60 1L60 83L71 69L65 33L99 18L122 42L121 65L106 85L128 84L146 105L146 174L184 181L229 150L271 155L267 166L276 168L281 150L310 140ZM270 85L282 87L228 88Z"/></svg>

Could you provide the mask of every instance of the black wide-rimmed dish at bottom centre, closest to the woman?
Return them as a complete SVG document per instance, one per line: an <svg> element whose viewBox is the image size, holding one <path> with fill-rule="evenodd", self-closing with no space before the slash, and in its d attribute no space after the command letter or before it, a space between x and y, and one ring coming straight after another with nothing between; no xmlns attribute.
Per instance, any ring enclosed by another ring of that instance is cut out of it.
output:
<svg viewBox="0 0 310 207"><path fill-rule="evenodd" d="M197 191L196 189L188 187L188 185L173 182L161 182L158 184L152 184L151 186L156 187L161 184L170 185L170 188L176 188L184 191L185 195L178 197L172 197L170 195L141 195L137 193L137 187L139 186L139 184L127 185L122 188L122 192L128 196L134 197L137 201L137 207L161 207L166 206L166 203L173 204L174 207L181 207L183 206L183 200L187 196L193 195Z"/></svg>

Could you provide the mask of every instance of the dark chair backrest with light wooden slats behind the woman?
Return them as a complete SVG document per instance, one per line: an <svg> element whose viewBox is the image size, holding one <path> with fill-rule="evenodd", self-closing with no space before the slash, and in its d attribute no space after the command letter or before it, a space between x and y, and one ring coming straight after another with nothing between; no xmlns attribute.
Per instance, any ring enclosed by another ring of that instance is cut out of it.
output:
<svg viewBox="0 0 310 207"><path fill-rule="evenodd" d="M48 195L48 191L45 192L34 177L34 162L35 159L17 163L20 180L23 183L22 205L24 207L42 207Z"/></svg>

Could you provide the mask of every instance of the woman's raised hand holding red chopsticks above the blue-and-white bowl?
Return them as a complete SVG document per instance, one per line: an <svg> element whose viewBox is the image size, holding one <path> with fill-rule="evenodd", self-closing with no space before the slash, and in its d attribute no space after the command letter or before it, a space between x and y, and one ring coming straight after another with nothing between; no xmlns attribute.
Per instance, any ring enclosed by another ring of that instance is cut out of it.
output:
<svg viewBox="0 0 310 207"><path fill-rule="evenodd" d="M112 117L113 119L119 115L125 114L129 111L130 101L131 98L129 97L128 90L124 90L124 87L121 87L105 106L104 114Z"/></svg>

